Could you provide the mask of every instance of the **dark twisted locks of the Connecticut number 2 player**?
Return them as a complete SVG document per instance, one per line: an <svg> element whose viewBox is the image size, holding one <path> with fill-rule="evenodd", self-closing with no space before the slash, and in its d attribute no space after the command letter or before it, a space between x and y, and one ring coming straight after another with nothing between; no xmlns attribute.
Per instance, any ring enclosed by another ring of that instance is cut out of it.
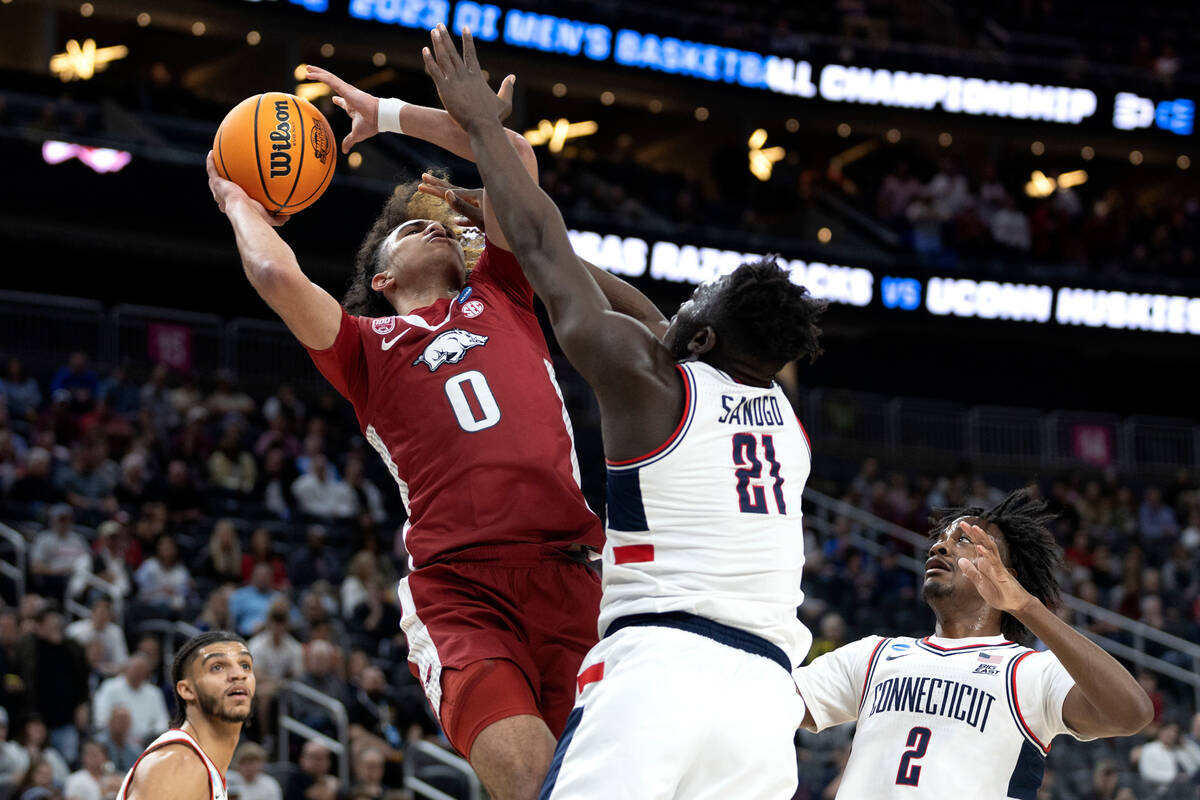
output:
<svg viewBox="0 0 1200 800"><path fill-rule="evenodd" d="M1055 515L1046 510L1045 500L1039 500L1030 487L1025 487L986 510L978 506L935 509L930 516L934 525L930 537L938 536L960 517L978 517L1000 528L1007 545L1008 566L1016 572L1016 579L1048 608L1058 604L1062 548L1050 531ZM1031 638L1030 631L1012 614L1002 616L1000 630L1012 642L1025 644Z"/></svg>

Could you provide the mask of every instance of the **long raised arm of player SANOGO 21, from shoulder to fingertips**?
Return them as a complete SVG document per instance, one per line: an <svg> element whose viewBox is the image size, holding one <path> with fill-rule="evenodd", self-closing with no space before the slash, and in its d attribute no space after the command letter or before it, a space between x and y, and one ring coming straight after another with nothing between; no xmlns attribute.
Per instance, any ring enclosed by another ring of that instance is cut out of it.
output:
<svg viewBox="0 0 1200 800"><path fill-rule="evenodd" d="M460 56L444 25L425 48L425 71L450 115L470 137L494 200L500 228L522 270L546 303L559 344L571 363L601 395L613 373L648 375L664 387L677 383L673 361L644 325L613 313L599 285L575 255L563 216L522 167L499 122L499 101L484 80L470 31Z"/></svg>

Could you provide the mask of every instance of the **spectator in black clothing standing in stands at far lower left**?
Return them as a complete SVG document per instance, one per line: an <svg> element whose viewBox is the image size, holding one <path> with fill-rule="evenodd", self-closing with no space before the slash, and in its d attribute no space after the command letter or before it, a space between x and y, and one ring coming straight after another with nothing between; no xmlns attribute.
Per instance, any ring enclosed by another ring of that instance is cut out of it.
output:
<svg viewBox="0 0 1200 800"><path fill-rule="evenodd" d="M61 752L59 739L73 736L76 708L88 702L88 666L83 649L62 634L62 614L55 604L38 609L34 621L35 631L17 644L17 672L30 710L41 715Z"/></svg>

